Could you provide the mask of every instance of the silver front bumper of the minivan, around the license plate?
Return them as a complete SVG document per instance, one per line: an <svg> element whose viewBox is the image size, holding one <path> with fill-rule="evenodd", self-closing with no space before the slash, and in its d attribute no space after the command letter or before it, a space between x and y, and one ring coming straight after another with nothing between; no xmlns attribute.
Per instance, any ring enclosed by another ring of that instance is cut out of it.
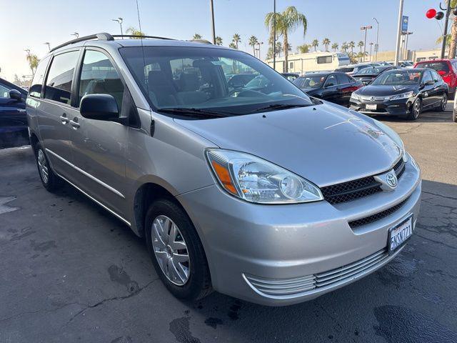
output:
<svg viewBox="0 0 457 343"><path fill-rule="evenodd" d="M420 199L420 171L411 160L394 192L335 205L251 204L217 185L179 196L201 237L214 289L270 306L316 298L388 263L401 250L385 254L388 229L410 215L415 223ZM375 222L348 224L401 202ZM326 282L329 275L334 282Z"/></svg>

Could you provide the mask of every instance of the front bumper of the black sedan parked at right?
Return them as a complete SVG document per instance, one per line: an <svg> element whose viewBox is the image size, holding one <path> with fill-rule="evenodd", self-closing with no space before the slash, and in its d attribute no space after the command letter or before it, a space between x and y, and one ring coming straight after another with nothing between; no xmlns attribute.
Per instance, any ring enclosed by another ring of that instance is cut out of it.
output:
<svg viewBox="0 0 457 343"><path fill-rule="evenodd" d="M367 115L386 114L393 116L406 116L411 113L415 98L398 99L393 101L370 101L351 98L351 109ZM376 109L367 109L366 105L376 105Z"/></svg>

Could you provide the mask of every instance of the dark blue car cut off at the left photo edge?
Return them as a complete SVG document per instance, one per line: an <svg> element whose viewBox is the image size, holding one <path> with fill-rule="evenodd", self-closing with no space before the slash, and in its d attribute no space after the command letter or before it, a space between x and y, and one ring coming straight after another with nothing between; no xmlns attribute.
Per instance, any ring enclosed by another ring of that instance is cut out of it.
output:
<svg viewBox="0 0 457 343"><path fill-rule="evenodd" d="M26 144L27 91L0 79L0 148Z"/></svg>

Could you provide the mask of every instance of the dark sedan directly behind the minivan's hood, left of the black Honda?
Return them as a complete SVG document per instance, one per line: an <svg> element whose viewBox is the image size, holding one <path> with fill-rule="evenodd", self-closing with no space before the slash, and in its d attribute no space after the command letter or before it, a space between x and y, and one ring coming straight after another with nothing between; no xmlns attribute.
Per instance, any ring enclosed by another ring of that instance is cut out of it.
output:
<svg viewBox="0 0 457 343"><path fill-rule="evenodd" d="M295 79L293 84L310 96L342 106L349 106L352 92L363 86L343 72L307 74Z"/></svg>

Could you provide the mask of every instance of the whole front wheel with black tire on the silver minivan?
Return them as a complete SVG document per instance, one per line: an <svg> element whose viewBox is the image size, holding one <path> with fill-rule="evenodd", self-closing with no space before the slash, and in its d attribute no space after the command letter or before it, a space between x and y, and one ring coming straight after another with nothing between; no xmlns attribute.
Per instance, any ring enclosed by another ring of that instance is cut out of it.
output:
<svg viewBox="0 0 457 343"><path fill-rule="evenodd" d="M159 199L149 207L145 224L152 263L171 294L190 301L210 294L206 255L184 210L171 199Z"/></svg>

